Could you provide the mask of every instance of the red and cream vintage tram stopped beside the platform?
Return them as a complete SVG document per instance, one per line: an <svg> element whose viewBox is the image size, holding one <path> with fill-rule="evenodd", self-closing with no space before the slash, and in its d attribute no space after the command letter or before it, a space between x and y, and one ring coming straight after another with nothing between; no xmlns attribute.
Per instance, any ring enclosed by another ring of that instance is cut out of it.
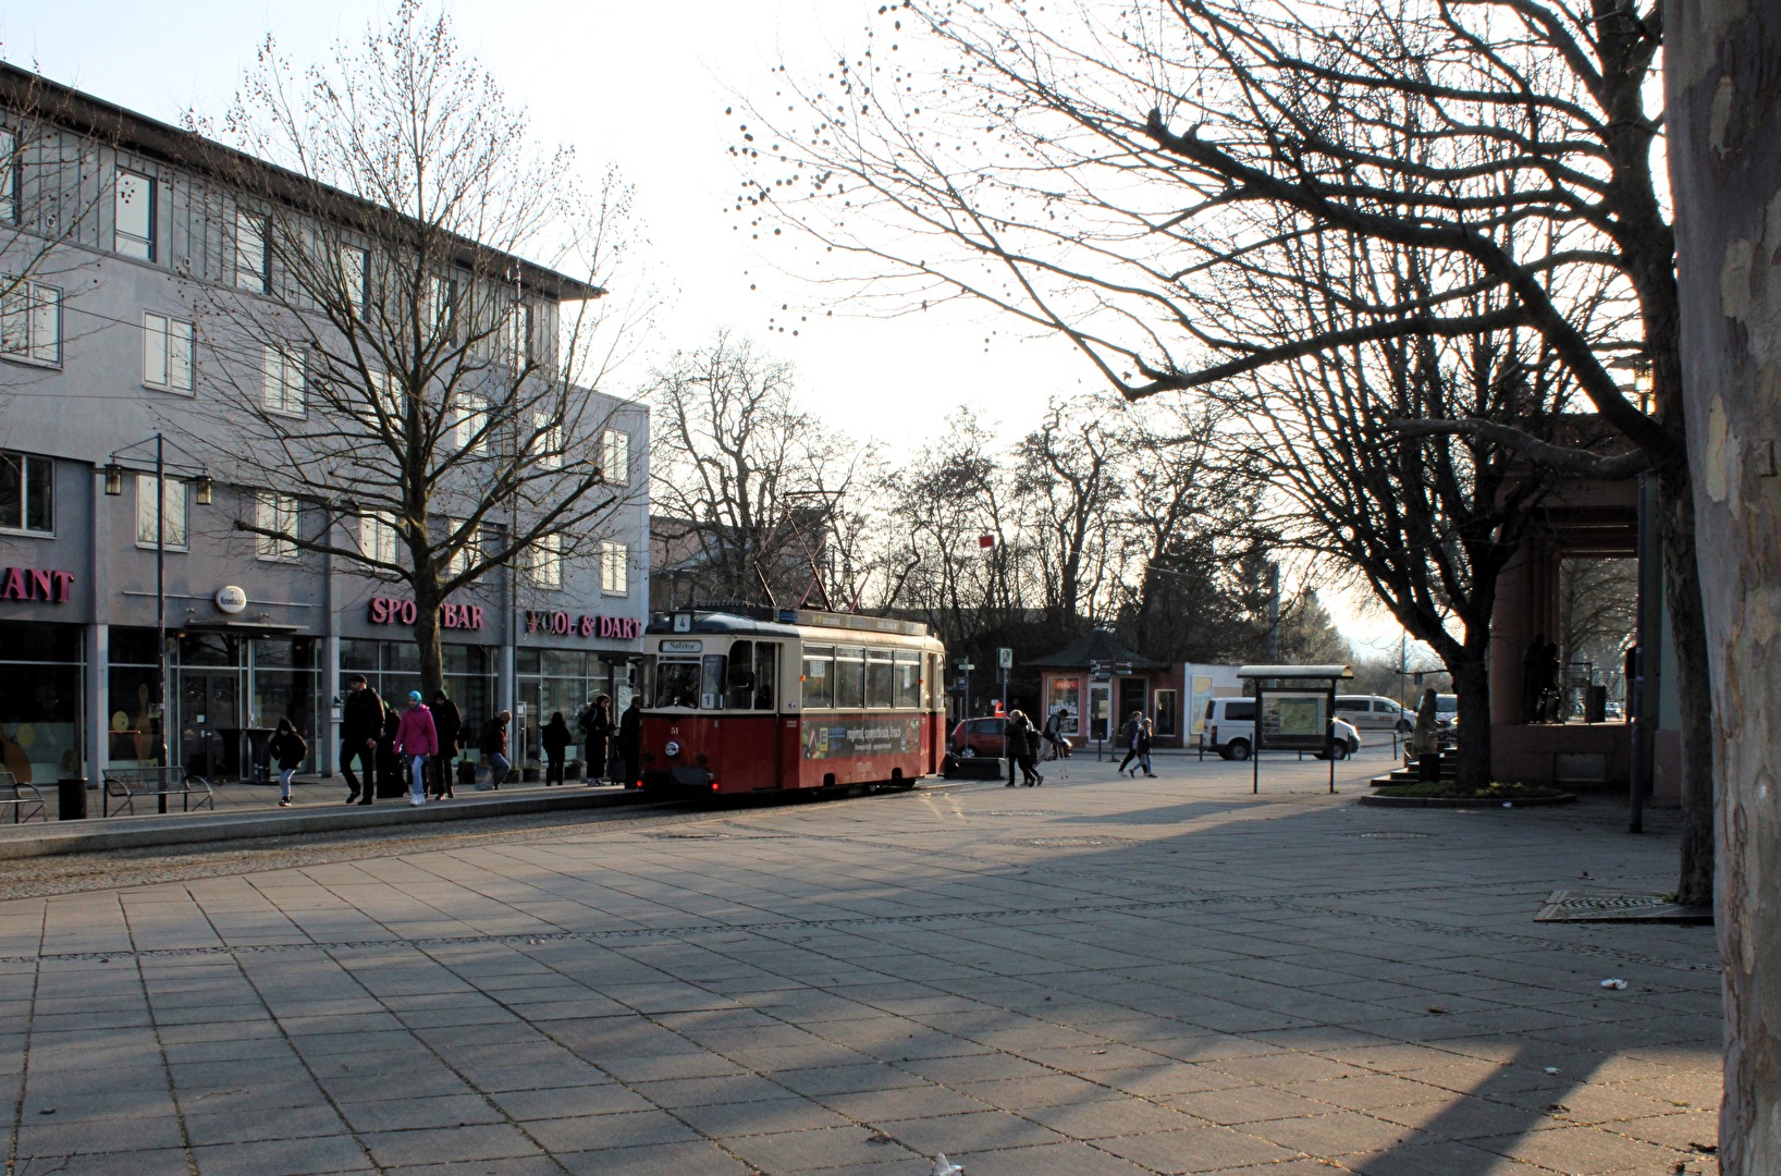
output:
<svg viewBox="0 0 1781 1176"><path fill-rule="evenodd" d="M912 786L946 755L940 641L917 622L734 606L643 633L643 788Z"/></svg>

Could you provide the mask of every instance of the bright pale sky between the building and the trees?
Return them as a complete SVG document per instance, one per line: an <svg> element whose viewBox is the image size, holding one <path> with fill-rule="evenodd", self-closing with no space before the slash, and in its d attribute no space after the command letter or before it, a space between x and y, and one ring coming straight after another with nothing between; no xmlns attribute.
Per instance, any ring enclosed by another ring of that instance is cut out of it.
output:
<svg viewBox="0 0 1781 1176"><path fill-rule="evenodd" d="M830 428L894 456L940 437L962 404L1013 438L1038 422L1047 397L1101 390L1067 344L1012 335L987 310L874 319L834 306L835 317L812 315L796 339L777 330L782 306L810 305L817 292L785 271L794 249L757 251L728 214L741 173L727 153L737 118L725 107L764 94L780 61L814 71L858 41L873 9L862 0L447 5L463 48L527 109L540 139L573 146L590 182L614 164L636 185L647 271L630 273L664 301L618 387L602 385L607 392L636 390L650 363L728 328L791 360L801 399ZM171 123L187 109L221 118L269 32L292 62L308 62L392 11L385 0L0 0L0 50ZM1327 604L1350 640L1377 656L1389 645L1396 659L1395 624L1350 597Z"/></svg>

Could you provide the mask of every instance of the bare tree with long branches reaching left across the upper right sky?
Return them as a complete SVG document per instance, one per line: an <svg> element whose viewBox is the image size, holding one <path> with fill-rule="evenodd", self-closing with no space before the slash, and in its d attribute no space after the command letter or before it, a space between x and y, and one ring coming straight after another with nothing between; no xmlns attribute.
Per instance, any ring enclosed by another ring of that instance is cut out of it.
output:
<svg viewBox="0 0 1781 1176"><path fill-rule="evenodd" d="M814 233L823 273L864 276L851 292L885 312L969 298L1061 333L1127 397L1362 342L1537 331L1667 501L1679 889L1697 900L1712 884L1710 697L1674 241L1646 105L1662 20L1608 0L912 0L826 78L775 75L736 144L752 176L737 210ZM926 46L953 57L926 71ZM1257 306L1224 287L1320 235L1462 258L1476 276L1387 289L1361 326L1259 346ZM1480 290L1494 294L1482 315ZM1633 355L1651 363L1651 413L1610 367Z"/></svg>

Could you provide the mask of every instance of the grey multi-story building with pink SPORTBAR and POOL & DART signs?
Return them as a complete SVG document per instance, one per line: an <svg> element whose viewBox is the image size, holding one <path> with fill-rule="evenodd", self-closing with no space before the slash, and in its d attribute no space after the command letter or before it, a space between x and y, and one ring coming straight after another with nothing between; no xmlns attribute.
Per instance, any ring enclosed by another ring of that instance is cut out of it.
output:
<svg viewBox="0 0 1781 1176"><path fill-rule="evenodd" d="M312 219L344 208L369 223L363 201L306 191L299 176L11 66L0 66L0 160L4 766L37 782L98 779L164 754L228 777L242 772L251 732L290 718L312 768L335 770L346 675L365 674L385 698L420 686L417 613L397 577L276 531L340 536L386 561L399 559L397 535L386 515L356 511L351 486L338 501L283 492L217 454L265 444L246 417L233 431L242 367L255 381L264 371L280 413L322 415L315 383L305 399L301 355L226 330L278 310L267 301L278 280L267 217L280 208L267 201L283 194ZM242 176L276 184L248 192ZM534 346L552 346L563 303L600 294L461 246L479 257L454 273L502 274L495 294L509 299L508 317L524 315ZM340 257L360 249L374 267L374 248L342 246ZM499 707L524 709L524 738L552 711L573 720L595 693L620 706L629 695L648 599L648 413L572 394L590 435L563 447L598 454L611 508L577 535L541 535L447 599L445 686L472 729ZM474 422L467 412L459 428ZM550 428L541 422L534 440ZM490 431L476 444L504 442ZM515 499L486 513L476 549L500 549L541 508L536 492ZM533 757L536 747L533 738Z"/></svg>

